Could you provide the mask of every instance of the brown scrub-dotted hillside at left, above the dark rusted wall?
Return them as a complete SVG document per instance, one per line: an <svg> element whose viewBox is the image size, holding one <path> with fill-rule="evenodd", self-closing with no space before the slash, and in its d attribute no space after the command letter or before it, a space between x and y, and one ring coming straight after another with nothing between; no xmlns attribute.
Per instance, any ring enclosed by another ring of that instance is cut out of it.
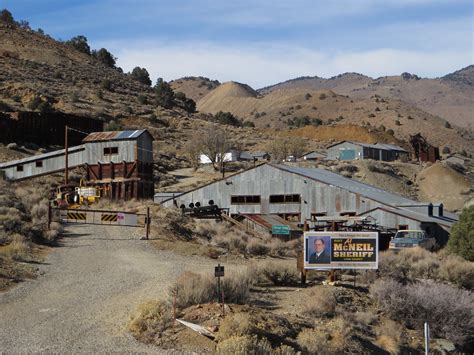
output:
<svg viewBox="0 0 474 355"><path fill-rule="evenodd" d="M146 115L152 89L120 69L47 35L0 23L0 100L12 110L30 110L35 99L53 109L88 116Z"/></svg>

